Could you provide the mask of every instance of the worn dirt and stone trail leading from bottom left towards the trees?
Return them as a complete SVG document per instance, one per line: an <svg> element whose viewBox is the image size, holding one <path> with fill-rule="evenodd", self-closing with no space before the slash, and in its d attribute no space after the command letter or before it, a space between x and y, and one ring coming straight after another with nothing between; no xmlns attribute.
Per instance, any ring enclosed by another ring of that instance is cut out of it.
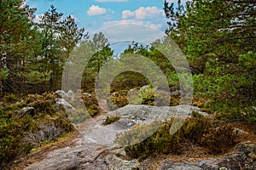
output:
<svg viewBox="0 0 256 170"><path fill-rule="evenodd" d="M102 111L94 118L89 118L83 123L75 125L76 132L66 139L32 151L30 155L16 161L11 169L77 169L81 164L86 165L86 163L95 161L104 152L104 147L106 146L98 144L94 139L90 139L88 134L101 127L97 121L110 111L107 101L102 100L101 102ZM82 169L86 169L85 167Z"/></svg>

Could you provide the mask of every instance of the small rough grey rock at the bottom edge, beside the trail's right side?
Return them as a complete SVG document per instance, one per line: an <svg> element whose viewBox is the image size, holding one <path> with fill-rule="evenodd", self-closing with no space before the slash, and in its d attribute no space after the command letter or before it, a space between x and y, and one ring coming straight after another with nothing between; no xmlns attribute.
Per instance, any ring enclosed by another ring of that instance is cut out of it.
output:
<svg viewBox="0 0 256 170"><path fill-rule="evenodd" d="M106 156L105 162L109 170L136 170L140 165L137 160L126 161L113 155Z"/></svg>

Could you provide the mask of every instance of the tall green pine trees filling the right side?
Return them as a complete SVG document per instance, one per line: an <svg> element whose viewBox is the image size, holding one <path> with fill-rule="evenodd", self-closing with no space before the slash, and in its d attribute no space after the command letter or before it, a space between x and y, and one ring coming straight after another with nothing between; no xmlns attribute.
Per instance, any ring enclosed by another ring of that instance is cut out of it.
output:
<svg viewBox="0 0 256 170"><path fill-rule="evenodd" d="M185 7L165 2L166 33L189 60L195 97L231 120L253 120L242 114L255 103L253 10L252 1L195 0Z"/></svg>

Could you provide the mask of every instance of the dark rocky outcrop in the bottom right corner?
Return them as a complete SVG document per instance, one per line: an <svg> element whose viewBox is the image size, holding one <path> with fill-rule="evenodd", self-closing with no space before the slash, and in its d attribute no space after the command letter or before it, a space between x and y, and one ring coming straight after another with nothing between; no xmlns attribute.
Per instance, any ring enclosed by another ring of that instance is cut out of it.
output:
<svg viewBox="0 0 256 170"><path fill-rule="evenodd" d="M228 155L220 158L205 159L196 162L162 161L160 170L193 169L193 170L238 170L256 169L256 143L247 141L237 144Z"/></svg>

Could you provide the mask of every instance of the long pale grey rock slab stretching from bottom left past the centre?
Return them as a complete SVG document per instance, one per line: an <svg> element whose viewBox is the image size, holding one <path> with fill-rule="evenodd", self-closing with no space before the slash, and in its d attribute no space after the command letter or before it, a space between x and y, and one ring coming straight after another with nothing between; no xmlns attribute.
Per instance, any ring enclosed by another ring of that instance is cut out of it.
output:
<svg viewBox="0 0 256 170"><path fill-rule="evenodd" d="M114 163L109 161L113 159L105 158L102 153L106 150L120 148L119 144L115 142L117 134L131 129L137 124L148 124L155 120L164 121L171 117L183 117L185 119L190 116L192 111L200 112L202 115L206 114L201 112L199 108L189 105L172 107L126 105L105 116L90 118L79 125L75 125L80 136L75 139L72 146L50 151L41 161L28 165L26 170L106 169L106 160L108 166L114 169ZM102 125L107 116L116 116L117 114L120 116L119 122L113 122L107 126ZM115 161L120 160L115 159ZM128 167L131 166L130 161L124 162ZM126 169L129 169L128 167Z"/></svg>

